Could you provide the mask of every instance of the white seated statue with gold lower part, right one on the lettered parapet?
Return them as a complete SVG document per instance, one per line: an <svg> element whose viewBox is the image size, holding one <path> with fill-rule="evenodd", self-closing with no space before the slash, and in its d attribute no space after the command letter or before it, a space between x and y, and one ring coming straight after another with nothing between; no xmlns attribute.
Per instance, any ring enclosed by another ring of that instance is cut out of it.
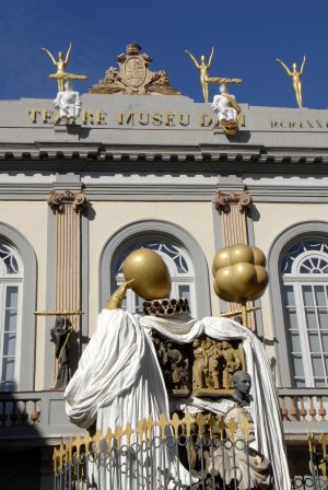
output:
<svg viewBox="0 0 328 490"><path fill-rule="evenodd" d="M244 116L235 96L227 93L227 85L220 85L220 95L214 95L212 109L218 114L218 126L225 135L235 136L239 125L244 124Z"/></svg>

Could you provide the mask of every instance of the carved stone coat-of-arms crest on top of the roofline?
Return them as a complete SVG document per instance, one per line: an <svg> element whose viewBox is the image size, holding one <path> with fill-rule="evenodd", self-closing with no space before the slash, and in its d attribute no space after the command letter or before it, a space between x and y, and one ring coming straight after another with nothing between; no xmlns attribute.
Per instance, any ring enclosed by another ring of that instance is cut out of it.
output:
<svg viewBox="0 0 328 490"><path fill-rule="evenodd" d="M166 71L151 71L152 59L140 54L139 44L129 44L126 52L116 58L119 69L109 67L105 78L90 89L91 94L125 94L125 95L179 95L169 85Z"/></svg>

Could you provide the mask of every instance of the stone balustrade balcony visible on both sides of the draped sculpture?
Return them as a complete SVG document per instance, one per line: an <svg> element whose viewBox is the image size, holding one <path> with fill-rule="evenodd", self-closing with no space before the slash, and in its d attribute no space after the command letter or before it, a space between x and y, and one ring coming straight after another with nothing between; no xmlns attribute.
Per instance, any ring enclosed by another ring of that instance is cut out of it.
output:
<svg viewBox="0 0 328 490"><path fill-rule="evenodd" d="M328 388L279 388L286 442L327 432ZM81 430L66 417L63 392L0 393L0 445L56 445Z"/></svg>

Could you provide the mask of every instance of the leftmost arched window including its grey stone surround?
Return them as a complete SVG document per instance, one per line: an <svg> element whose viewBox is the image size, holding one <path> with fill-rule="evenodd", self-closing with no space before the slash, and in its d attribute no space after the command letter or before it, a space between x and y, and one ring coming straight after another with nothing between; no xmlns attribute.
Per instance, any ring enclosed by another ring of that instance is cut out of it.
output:
<svg viewBox="0 0 328 490"><path fill-rule="evenodd" d="M34 389L36 271L31 244L0 222L0 392Z"/></svg>

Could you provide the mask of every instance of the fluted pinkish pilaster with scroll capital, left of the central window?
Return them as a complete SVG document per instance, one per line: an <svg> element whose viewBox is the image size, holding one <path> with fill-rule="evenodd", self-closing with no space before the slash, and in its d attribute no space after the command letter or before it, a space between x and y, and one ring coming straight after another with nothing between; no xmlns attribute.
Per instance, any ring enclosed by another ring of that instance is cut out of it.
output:
<svg viewBox="0 0 328 490"><path fill-rule="evenodd" d="M81 212L89 205L83 192L51 192L47 202L56 215L56 288L55 310L81 311ZM69 316L73 332L70 360L74 371L80 358L81 317Z"/></svg>

